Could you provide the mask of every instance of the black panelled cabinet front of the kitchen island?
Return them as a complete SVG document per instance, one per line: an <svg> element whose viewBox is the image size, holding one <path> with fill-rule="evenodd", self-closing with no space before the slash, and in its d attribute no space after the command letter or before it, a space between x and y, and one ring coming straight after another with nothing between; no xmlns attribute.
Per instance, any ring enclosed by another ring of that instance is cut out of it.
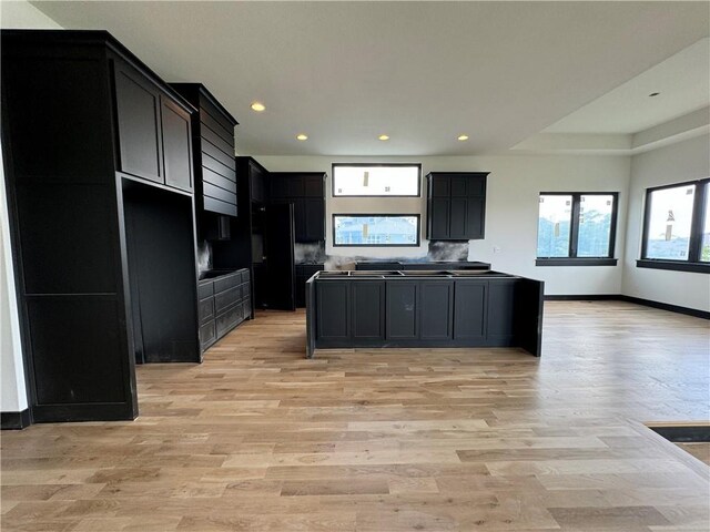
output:
<svg viewBox="0 0 710 532"><path fill-rule="evenodd" d="M510 346L527 313L519 283L316 279L315 338L323 347ZM530 299L531 314L538 313L539 303Z"/></svg>

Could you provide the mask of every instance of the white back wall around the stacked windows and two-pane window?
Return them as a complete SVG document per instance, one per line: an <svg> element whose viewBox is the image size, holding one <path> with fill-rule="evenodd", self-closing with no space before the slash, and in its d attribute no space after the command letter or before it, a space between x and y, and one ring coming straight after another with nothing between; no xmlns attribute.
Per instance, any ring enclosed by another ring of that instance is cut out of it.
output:
<svg viewBox="0 0 710 532"><path fill-rule="evenodd" d="M629 157L626 156L480 156L480 157L327 157L258 156L270 171L327 172L333 162L420 162L423 173L432 171L485 171L488 176L486 200L486 238L471 241L469 260L491 263L494 269L545 280L546 294L619 294L622 262L618 266L537 267L538 195L540 192L618 192L617 258L625 249L626 203L629 183ZM424 256L428 242L419 248L333 248L332 214L403 212L422 213L422 198L333 198L331 180L326 188L326 252L336 255L372 257ZM413 211L413 209L417 211ZM494 253L494 247L500 248Z"/></svg>

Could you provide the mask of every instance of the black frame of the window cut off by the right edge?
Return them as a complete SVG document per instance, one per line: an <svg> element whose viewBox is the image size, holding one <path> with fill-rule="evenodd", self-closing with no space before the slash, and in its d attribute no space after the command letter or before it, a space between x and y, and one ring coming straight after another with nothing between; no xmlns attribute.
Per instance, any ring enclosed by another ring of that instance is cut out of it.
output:
<svg viewBox="0 0 710 532"><path fill-rule="evenodd" d="M648 231L651 223L651 194L656 191L667 188L681 188L694 185L696 192L692 202L692 217L690 218L690 237L688 241L688 258L649 258L648 254ZM710 274L710 263L700 260L702 246L702 229L704 224L706 209L710 209L710 177L702 180L683 181L668 185L652 186L646 188L643 202L643 228L641 232L641 254L636 260L638 268L670 269L676 272L693 272L697 274Z"/></svg>

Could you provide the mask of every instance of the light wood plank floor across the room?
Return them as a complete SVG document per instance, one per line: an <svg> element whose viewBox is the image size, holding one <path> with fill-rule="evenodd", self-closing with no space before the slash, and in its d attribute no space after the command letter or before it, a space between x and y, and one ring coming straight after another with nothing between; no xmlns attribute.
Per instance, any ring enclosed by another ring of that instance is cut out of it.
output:
<svg viewBox="0 0 710 532"><path fill-rule="evenodd" d="M139 369L133 422L2 438L2 531L708 531L710 469L641 423L706 420L708 321L547 303L515 349L318 351L260 314Z"/></svg>

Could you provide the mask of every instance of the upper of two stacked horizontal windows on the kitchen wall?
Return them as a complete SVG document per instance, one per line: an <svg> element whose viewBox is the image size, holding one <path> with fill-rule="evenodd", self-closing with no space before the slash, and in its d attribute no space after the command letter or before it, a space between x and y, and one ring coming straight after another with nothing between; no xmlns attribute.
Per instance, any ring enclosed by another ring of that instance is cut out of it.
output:
<svg viewBox="0 0 710 532"><path fill-rule="evenodd" d="M420 164L333 163L333 196L417 197Z"/></svg>

